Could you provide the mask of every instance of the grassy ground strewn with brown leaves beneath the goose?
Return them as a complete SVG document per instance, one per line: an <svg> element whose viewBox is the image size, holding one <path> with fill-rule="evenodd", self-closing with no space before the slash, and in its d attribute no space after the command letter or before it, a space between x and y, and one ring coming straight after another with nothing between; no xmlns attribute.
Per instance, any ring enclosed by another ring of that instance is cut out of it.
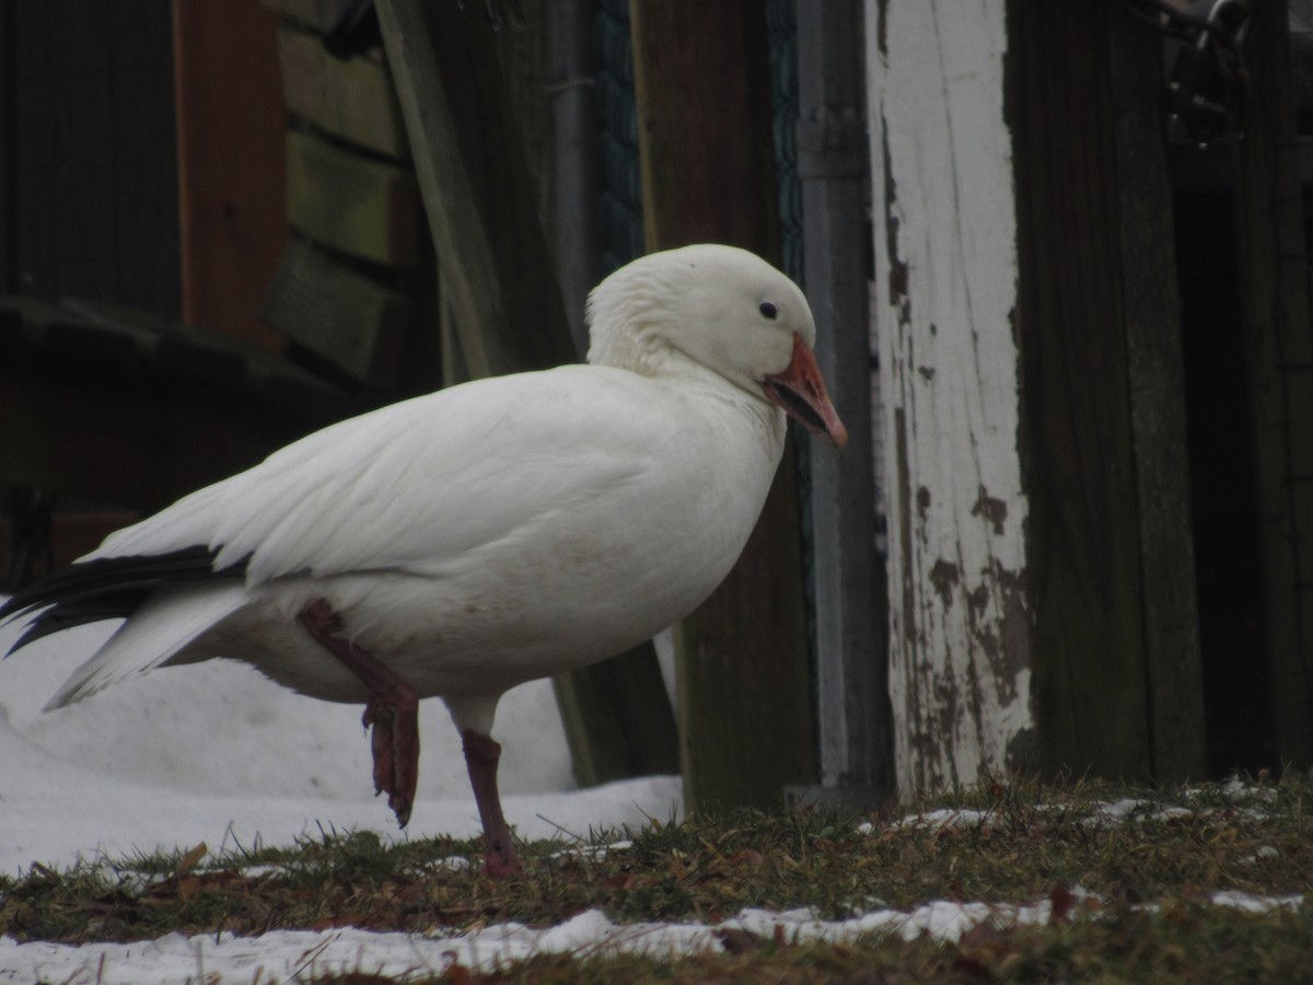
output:
<svg viewBox="0 0 1313 985"><path fill-rule="evenodd" d="M192 852L0 876L0 934L134 940L171 931L473 930L559 923L718 923L744 908L842 919L931 900L1052 901L1045 926L979 925L956 943L869 935L844 944L722 935L723 953L675 963L542 956L448 981L1309 981L1313 898L1249 914L1215 893L1287 897L1313 886L1313 774L1279 781L1124 788L986 783L880 820L738 812L524 846L525 871L490 880L479 846L395 846L323 833L281 848ZM939 813L930 813L939 812ZM919 817L923 816L923 817ZM607 846L625 839L624 847ZM454 862L453 862L454 860ZM1085 897L1088 893L1090 897ZM368 981L326 978L323 981Z"/></svg>

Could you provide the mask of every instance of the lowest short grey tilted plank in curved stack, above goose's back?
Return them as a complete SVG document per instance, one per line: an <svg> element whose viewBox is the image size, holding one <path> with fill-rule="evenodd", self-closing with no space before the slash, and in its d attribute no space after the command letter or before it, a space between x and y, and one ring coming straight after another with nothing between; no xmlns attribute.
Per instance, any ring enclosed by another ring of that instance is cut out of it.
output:
<svg viewBox="0 0 1313 985"><path fill-rule="evenodd" d="M261 309L289 339L383 390L397 383L414 305L309 243L288 243Z"/></svg>

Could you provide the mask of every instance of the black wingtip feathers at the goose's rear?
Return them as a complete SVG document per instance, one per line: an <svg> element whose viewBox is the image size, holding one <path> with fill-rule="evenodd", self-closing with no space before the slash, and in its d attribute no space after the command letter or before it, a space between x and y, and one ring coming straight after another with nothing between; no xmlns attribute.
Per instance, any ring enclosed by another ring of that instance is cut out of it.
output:
<svg viewBox="0 0 1313 985"><path fill-rule="evenodd" d="M215 570L217 557L218 550L196 545L165 554L96 558L42 578L0 605L0 623L41 609L9 653L84 623L126 619L161 587L246 574L247 558Z"/></svg>

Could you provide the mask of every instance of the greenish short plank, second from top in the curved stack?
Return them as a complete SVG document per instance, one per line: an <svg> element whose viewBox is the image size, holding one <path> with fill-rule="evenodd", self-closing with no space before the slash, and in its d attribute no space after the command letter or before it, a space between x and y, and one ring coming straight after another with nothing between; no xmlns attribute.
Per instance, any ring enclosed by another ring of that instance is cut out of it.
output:
<svg viewBox="0 0 1313 985"><path fill-rule="evenodd" d="M284 25L278 55L288 109L352 143L410 156L406 121L381 50L334 58L318 34Z"/></svg>

